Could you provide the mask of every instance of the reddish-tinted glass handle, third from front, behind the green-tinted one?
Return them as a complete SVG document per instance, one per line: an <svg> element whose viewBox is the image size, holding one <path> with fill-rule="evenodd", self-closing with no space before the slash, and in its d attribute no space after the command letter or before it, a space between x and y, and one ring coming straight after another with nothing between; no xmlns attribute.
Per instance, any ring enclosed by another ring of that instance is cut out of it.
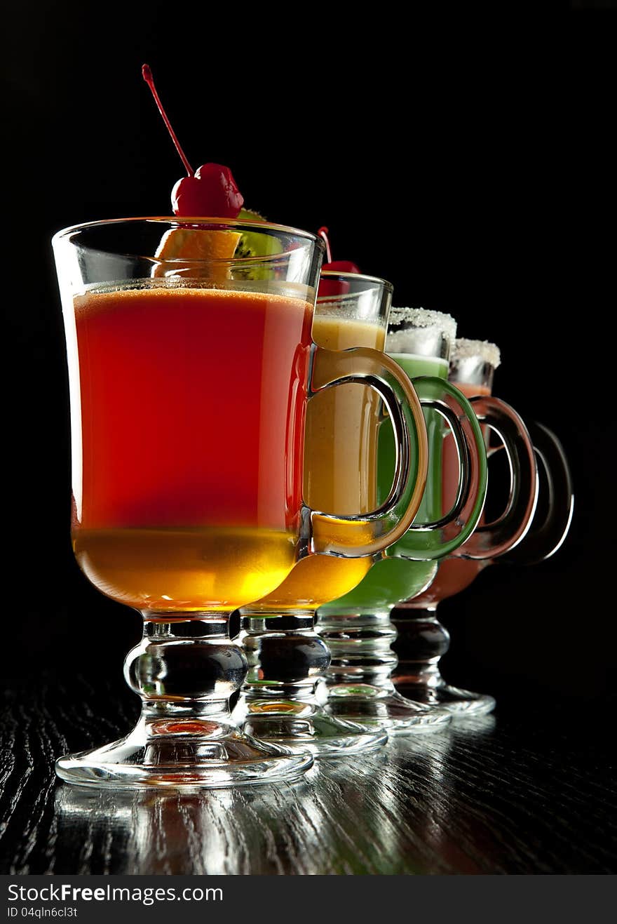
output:
<svg viewBox="0 0 617 924"><path fill-rule="evenodd" d="M538 504L538 465L526 425L500 398L477 395L469 399L478 420L501 444L488 450L489 456L505 451L510 468L508 502L501 517L482 523L453 557L487 560L514 549L531 526Z"/></svg>

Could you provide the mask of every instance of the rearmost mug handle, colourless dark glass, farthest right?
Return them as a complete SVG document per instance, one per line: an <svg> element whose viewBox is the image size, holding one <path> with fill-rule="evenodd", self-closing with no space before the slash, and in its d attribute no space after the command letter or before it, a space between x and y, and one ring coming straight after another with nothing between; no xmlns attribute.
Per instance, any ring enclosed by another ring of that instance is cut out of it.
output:
<svg viewBox="0 0 617 924"><path fill-rule="evenodd" d="M524 541L500 558L500 562L513 565L537 565L556 553L568 534L575 509L572 474L563 445L543 424L530 421L527 426L538 460L542 504Z"/></svg>

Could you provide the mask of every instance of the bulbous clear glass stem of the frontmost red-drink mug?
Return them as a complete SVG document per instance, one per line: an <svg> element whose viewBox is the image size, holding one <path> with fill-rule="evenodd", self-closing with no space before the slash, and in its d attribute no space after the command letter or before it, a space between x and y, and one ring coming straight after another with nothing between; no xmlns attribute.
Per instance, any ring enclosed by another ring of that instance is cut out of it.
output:
<svg viewBox="0 0 617 924"><path fill-rule="evenodd" d="M127 684L142 702L151 735L208 734L236 728L229 698L248 664L229 638L228 614L143 613L143 637L127 654Z"/></svg>

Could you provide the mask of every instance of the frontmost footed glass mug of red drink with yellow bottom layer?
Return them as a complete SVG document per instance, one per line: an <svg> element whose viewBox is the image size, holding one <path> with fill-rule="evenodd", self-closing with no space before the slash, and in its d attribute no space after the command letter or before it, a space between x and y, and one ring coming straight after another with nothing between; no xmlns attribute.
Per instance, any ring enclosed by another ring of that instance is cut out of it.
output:
<svg viewBox="0 0 617 924"><path fill-rule="evenodd" d="M417 395L376 351L312 343L322 245L306 232L127 219L68 228L53 245L73 547L94 586L144 618L125 663L139 723L56 772L111 787L293 779L308 752L264 744L231 719L247 662L229 614L305 556L372 555L406 529L427 470ZM369 518L302 497L307 398L349 380L378 390L400 450L391 496Z"/></svg>

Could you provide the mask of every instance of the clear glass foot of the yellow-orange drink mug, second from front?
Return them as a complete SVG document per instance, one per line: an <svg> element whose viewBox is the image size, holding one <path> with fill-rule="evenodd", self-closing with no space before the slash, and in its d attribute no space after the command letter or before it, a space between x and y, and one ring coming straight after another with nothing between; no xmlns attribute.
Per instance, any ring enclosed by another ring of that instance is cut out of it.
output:
<svg viewBox="0 0 617 924"><path fill-rule="evenodd" d="M314 703L265 699L245 702L240 708L248 735L295 753L309 751L321 760L371 751L388 740L383 729L342 721Z"/></svg>

